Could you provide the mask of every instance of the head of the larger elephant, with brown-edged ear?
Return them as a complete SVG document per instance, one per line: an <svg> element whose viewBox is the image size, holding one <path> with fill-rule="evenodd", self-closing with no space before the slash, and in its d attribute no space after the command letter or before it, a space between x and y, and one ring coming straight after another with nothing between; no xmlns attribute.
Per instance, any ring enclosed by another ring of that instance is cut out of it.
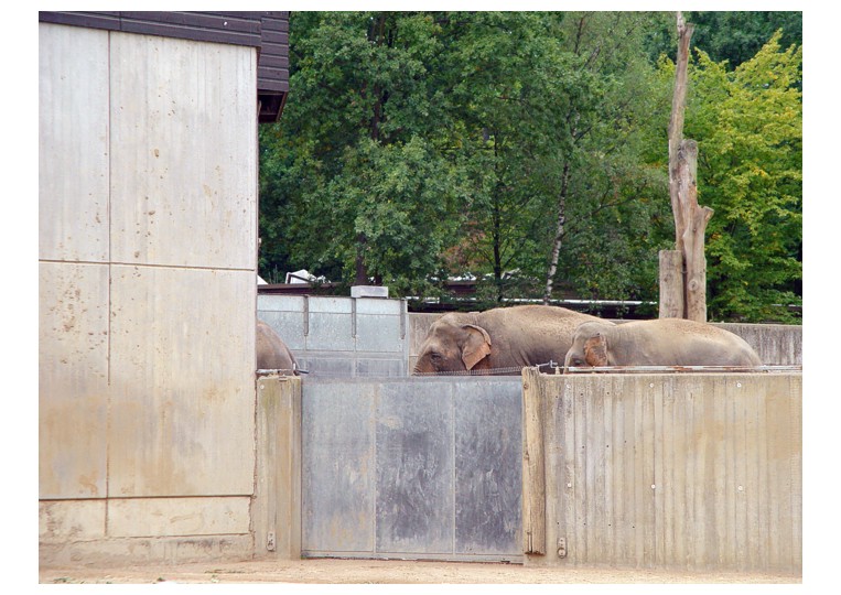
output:
<svg viewBox="0 0 841 595"><path fill-rule="evenodd" d="M421 345L414 374L454 372L486 367L490 335L482 326L465 322L463 315L445 314L435 321Z"/></svg>

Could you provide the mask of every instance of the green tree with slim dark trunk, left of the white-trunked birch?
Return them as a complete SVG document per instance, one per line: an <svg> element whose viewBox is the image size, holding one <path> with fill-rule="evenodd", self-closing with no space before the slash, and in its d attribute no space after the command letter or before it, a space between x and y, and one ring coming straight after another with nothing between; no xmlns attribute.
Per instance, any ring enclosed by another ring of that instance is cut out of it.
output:
<svg viewBox="0 0 841 595"><path fill-rule="evenodd" d="M489 275L489 296L511 291L506 272L542 267L547 164L568 126L565 106L591 83L560 47L563 13L483 12L449 15L453 152L468 199L460 273Z"/></svg>

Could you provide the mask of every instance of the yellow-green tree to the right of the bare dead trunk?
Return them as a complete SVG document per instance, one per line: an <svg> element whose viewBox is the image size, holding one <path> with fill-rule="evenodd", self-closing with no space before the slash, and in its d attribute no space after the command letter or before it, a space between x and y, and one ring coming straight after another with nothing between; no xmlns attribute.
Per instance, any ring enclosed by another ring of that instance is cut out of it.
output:
<svg viewBox="0 0 841 595"><path fill-rule="evenodd" d="M698 52L684 136L699 142L713 320L795 320L802 275L802 50L778 32L734 71Z"/></svg>

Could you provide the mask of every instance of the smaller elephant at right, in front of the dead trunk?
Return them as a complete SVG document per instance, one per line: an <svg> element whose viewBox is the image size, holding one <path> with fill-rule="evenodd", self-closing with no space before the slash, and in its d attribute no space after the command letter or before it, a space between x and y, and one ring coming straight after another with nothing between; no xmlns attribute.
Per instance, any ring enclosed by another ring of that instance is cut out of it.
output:
<svg viewBox="0 0 841 595"><path fill-rule="evenodd" d="M605 325L589 322L575 329L563 360L570 367L603 366L762 366L738 335L684 318L655 318Z"/></svg>

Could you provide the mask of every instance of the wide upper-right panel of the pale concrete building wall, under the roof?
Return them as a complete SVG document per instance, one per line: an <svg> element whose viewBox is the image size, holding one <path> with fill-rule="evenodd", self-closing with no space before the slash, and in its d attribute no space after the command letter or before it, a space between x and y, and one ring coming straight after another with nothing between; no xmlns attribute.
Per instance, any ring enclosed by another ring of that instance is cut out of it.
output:
<svg viewBox="0 0 841 595"><path fill-rule="evenodd" d="M114 260L254 271L256 51L115 32L111 64Z"/></svg>

